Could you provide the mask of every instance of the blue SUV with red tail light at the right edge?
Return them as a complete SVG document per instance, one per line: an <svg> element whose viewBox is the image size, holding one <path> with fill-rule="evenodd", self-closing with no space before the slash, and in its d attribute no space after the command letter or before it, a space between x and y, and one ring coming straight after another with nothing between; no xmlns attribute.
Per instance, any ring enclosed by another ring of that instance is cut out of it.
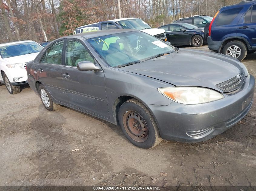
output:
<svg viewBox="0 0 256 191"><path fill-rule="evenodd" d="M206 27L210 50L243 60L256 51L256 0L220 8Z"/></svg>

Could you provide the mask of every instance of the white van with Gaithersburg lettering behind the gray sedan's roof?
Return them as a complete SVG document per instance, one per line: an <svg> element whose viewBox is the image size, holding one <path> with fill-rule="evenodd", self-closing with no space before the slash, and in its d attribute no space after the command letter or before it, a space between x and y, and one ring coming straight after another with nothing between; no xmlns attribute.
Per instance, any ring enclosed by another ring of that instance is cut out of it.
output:
<svg viewBox="0 0 256 191"><path fill-rule="evenodd" d="M76 28L75 33L85 33L95 30L107 30L107 29L137 29L145 33L148 33L158 39L166 41L166 33L164 29L152 29L145 21L139 18L121 18L109 21L98 22L94 24L88 24Z"/></svg>

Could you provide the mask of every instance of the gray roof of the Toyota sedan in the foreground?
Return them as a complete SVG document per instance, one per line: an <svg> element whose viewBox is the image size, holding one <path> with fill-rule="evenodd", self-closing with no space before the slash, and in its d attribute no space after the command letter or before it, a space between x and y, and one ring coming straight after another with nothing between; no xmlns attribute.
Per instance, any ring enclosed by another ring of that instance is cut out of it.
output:
<svg viewBox="0 0 256 191"><path fill-rule="evenodd" d="M118 34L118 33L125 33L125 32L131 32L131 31L139 31L135 29L108 29L108 30L98 30L98 31L91 31L87 33L78 33L78 34L73 34L67 37L62 37L62 38L72 38L72 37L84 37L85 39L89 38L95 38L95 37L101 37L105 35L110 35L110 34ZM62 39L60 38L60 39Z"/></svg>

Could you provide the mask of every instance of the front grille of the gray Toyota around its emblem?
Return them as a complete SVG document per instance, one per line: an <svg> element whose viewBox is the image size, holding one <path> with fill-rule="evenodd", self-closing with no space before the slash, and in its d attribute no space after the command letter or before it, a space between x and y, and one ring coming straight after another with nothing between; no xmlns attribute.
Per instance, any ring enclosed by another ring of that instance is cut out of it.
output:
<svg viewBox="0 0 256 191"><path fill-rule="evenodd" d="M244 81L245 81L245 78L246 78L244 71L242 71L240 73L240 75L241 75L241 78L242 78L240 82L237 81L236 76L235 76L234 78L231 78L228 81L224 81L220 84L215 85L215 87L221 89L222 91L224 91L226 93L231 92L231 91L235 91L244 84Z"/></svg>

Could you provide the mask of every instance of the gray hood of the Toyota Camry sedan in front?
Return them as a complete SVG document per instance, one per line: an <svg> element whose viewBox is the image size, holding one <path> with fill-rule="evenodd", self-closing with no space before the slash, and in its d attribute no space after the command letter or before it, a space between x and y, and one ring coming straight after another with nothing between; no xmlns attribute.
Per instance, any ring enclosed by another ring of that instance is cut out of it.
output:
<svg viewBox="0 0 256 191"><path fill-rule="evenodd" d="M238 75L243 69L236 60L216 53L181 49L166 56L118 68L165 81L175 86L212 88Z"/></svg>

